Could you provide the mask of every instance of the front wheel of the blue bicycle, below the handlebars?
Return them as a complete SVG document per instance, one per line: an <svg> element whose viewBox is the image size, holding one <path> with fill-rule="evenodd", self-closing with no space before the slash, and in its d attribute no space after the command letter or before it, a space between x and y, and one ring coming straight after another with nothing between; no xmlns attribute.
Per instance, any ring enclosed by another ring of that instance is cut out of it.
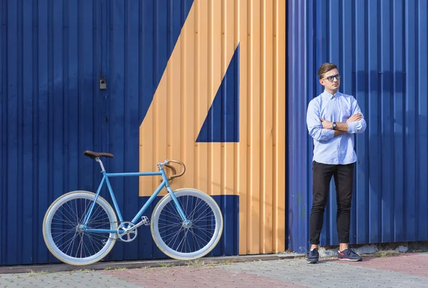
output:
<svg viewBox="0 0 428 288"><path fill-rule="evenodd" d="M189 223L181 220L171 195L165 195L153 210L153 240L166 255L192 260L208 254L223 232L223 216L213 197L195 189L174 192Z"/></svg>

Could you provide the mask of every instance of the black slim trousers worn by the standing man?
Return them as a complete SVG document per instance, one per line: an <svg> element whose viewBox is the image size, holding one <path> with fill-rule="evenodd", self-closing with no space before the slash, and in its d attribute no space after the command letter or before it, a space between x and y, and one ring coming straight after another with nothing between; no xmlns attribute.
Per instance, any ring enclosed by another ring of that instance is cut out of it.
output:
<svg viewBox="0 0 428 288"><path fill-rule="evenodd" d="M312 209L310 212L310 244L320 244L322 220L327 205L329 186L335 178L337 202L337 235L339 243L350 242L350 212L354 163L327 165L312 162Z"/></svg>

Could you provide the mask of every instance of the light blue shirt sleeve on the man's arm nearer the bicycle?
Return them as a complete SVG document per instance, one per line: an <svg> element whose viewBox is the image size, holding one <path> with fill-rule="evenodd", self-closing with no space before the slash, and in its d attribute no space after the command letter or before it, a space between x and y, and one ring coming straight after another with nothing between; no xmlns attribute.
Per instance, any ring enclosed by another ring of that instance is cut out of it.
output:
<svg viewBox="0 0 428 288"><path fill-rule="evenodd" d="M309 135L319 142L328 141L335 137L334 130L322 128L320 109L316 101L310 101L307 106L306 125Z"/></svg>

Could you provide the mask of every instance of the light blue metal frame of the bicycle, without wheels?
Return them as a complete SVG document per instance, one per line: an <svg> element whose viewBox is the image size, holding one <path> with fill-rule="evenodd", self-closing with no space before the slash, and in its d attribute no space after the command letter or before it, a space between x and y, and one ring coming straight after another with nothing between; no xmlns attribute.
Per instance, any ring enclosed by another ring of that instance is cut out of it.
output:
<svg viewBox="0 0 428 288"><path fill-rule="evenodd" d="M188 223L188 220L185 217L185 214L184 214L183 210L181 209L181 206L180 206L180 203L177 200L177 197L175 197L173 190L171 190L171 188L170 188L170 185L169 185L169 182L168 182L168 178L166 177L166 174L165 174L165 170L163 170L163 165L165 163L168 163L168 160L166 160L164 163L158 163L159 172L142 172L142 173L106 173L106 170L104 169L103 163L101 162L101 160L99 160L97 158L96 161L98 163L100 163L100 165L101 165L101 170L102 170L102 173L103 173L103 179L101 180L101 183L98 186L98 190L96 191L95 199L93 200L93 203L91 204L91 207L89 208L89 212L86 215L85 220L83 221L83 227L81 227L81 230L83 230L85 232L91 232L91 233L116 233L116 232L118 232L118 230L88 229L86 227L88 225L88 220L91 219L91 215L92 215L92 212L93 212L93 207L95 206L96 200L98 200L98 195L100 195L101 188L103 187L104 182L107 183L108 191L110 192L111 199L113 200L114 209L116 210L116 213L117 213L117 215L119 217L119 221L123 222L121 210L118 207L118 202L116 202L116 197L114 196L113 189L111 188L110 181L108 180L109 177L162 176L163 180L161 182L161 185L158 186L158 188L156 189L156 191L153 192L153 194L151 195L150 198L148 198L146 204L143 205L143 207L141 208L141 210L138 211L138 213L136 214L136 216L131 221L133 224L136 225L133 228L140 227L141 225L143 225L143 220L141 220L140 222L137 223L138 219L141 218L141 216L143 215L143 213L147 210L148 206L151 205L151 203L153 202L153 200L155 200L156 196L158 196L158 194L161 192L161 190L163 189L163 187L166 187L166 190L171 195L171 197L173 199L173 202L175 204L175 207L178 210L178 214L181 217L181 220L183 220L183 222L185 222L185 223Z"/></svg>

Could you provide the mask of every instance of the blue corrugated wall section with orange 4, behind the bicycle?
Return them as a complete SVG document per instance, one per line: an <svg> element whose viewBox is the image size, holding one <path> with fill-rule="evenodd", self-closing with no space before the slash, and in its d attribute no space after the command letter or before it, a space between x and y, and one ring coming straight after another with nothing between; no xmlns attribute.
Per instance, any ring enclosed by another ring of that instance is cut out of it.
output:
<svg viewBox="0 0 428 288"><path fill-rule="evenodd" d="M0 23L0 264L57 262L41 223L96 190L87 149L115 155L109 172L183 160L173 188L223 210L211 255L285 249L284 1L0 0ZM158 180L111 180L126 220ZM106 259L164 257L149 233Z"/></svg>

